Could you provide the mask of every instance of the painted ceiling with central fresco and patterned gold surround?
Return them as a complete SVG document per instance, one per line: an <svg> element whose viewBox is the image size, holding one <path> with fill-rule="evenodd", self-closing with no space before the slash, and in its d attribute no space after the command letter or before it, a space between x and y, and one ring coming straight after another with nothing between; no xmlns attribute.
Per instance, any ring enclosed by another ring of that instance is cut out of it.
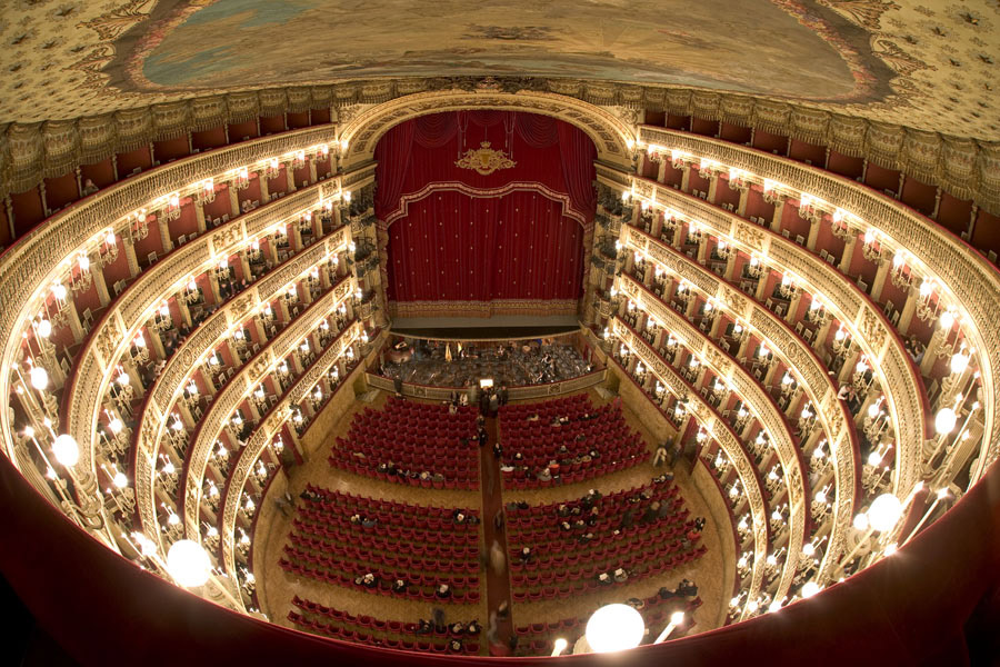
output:
<svg viewBox="0 0 1000 667"><path fill-rule="evenodd" d="M684 86L1000 138L998 0L7 0L0 122L387 77Z"/></svg>

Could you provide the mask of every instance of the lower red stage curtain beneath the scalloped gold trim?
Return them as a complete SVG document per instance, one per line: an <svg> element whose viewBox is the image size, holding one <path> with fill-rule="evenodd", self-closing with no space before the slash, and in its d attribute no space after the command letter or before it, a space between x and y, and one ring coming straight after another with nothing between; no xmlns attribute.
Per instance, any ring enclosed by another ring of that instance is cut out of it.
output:
<svg viewBox="0 0 1000 667"><path fill-rule="evenodd" d="M390 301L578 299L583 229L537 192L431 192L389 228Z"/></svg>

